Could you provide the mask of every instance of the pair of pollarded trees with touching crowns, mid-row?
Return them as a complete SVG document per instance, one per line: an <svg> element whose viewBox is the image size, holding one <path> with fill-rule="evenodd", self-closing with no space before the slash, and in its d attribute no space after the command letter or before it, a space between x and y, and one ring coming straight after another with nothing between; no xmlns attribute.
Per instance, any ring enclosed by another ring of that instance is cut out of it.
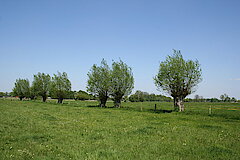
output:
<svg viewBox="0 0 240 160"><path fill-rule="evenodd" d="M100 66L94 64L88 73L87 91L99 98L100 106L105 107L112 97L115 107L121 106L124 96L134 87L132 69L123 61L113 62L110 68L103 59Z"/></svg>

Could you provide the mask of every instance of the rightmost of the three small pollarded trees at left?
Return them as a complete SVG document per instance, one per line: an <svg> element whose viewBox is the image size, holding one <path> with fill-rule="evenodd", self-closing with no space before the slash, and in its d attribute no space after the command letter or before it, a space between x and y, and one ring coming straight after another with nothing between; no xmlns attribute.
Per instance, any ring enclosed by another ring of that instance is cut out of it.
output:
<svg viewBox="0 0 240 160"><path fill-rule="evenodd" d="M58 103L62 103L71 91L71 82L68 79L67 73L58 72L52 77L51 96L58 98Z"/></svg>

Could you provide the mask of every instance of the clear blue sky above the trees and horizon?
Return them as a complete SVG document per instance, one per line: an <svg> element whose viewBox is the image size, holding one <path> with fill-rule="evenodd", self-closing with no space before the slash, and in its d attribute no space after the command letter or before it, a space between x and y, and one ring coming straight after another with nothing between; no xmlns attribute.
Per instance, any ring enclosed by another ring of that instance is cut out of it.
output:
<svg viewBox="0 0 240 160"><path fill-rule="evenodd" d="M136 90L154 85L159 63L181 50L198 60L204 98L240 99L239 0L0 0L0 91L38 72L67 72L72 90L104 58L133 70Z"/></svg>

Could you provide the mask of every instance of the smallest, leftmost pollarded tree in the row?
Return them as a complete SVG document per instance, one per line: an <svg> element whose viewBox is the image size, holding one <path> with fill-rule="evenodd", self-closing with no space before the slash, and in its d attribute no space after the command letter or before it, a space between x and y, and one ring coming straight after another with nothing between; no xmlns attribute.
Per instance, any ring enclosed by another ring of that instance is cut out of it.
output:
<svg viewBox="0 0 240 160"><path fill-rule="evenodd" d="M13 93L18 96L20 100L24 97L29 97L30 95L30 84L28 79L17 79L15 82L15 87L13 88Z"/></svg>

